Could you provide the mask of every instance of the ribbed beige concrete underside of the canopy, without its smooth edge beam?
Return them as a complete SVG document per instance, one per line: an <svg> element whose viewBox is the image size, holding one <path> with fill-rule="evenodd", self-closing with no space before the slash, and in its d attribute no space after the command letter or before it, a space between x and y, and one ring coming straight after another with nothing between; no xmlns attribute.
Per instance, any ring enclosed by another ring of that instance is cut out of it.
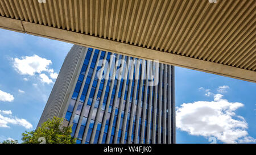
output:
<svg viewBox="0 0 256 155"><path fill-rule="evenodd" d="M249 70L249 81L255 82L255 5L254 0L1 0L0 13L7 18ZM26 31L26 27L23 29Z"/></svg>

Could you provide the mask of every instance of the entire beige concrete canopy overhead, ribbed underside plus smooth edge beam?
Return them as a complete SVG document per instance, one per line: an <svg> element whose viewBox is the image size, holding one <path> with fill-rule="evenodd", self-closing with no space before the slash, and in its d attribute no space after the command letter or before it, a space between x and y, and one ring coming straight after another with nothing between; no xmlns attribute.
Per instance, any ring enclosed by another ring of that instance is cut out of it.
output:
<svg viewBox="0 0 256 155"><path fill-rule="evenodd" d="M1 0L0 27L256 82L255 6L254 0Z"/></svg>

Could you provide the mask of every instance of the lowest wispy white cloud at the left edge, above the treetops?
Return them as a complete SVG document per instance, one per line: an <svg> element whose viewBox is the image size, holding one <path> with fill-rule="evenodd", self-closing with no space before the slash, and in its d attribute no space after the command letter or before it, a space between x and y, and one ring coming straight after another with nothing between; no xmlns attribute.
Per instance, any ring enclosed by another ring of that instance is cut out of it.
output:
<svg viewBox="0 0 256 155"><path fill-rule="evenodd" d="M15 116L12 116L11 111L5 111L5 112L1 111L0 113L8 114L8 116L3 116L0 114L0 127L2 128L10 128L9 124L20 125L26 129L32 128L31 123L29 123L26 119L20 119L20 118L16 118Z"/></svg>

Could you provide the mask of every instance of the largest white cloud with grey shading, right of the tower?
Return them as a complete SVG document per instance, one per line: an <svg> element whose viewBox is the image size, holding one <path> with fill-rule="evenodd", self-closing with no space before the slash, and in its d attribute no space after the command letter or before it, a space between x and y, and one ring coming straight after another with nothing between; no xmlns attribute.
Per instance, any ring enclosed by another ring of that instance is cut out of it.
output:
<svg viewBox="0 0 256 155"><path fill-rule="evenodd" d="M253 141L252 137L247 136L245 119L234 112L243 104L229 102L222 97L216 94L211 102L181 104L176 110L176 127L195 136L213 136L224 143Z"/></svg>

